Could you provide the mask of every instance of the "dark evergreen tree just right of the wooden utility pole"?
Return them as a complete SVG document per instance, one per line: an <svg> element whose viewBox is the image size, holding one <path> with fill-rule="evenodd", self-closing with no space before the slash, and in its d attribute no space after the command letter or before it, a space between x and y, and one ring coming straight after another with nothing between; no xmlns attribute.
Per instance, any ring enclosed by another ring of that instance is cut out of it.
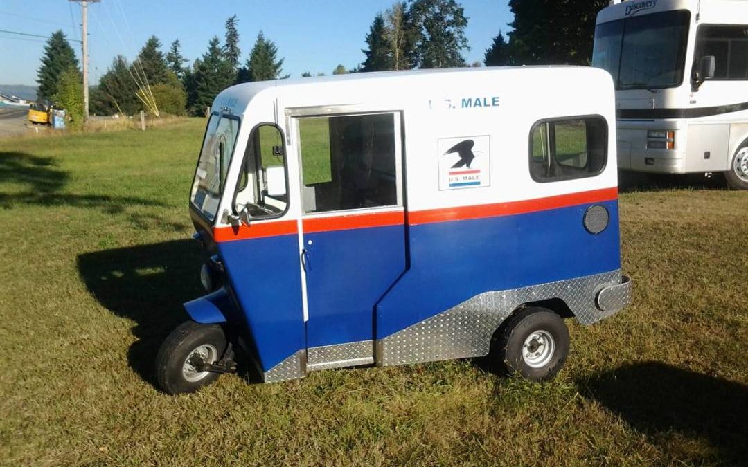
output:
<svg viewBox="0 0 748 467"><path fill-rule="evenodd" d="M131 75L127 59L122 55L114 58L99 80L99 90L105 107L97 108L97 113L132 115L141 109L141 102L135 97L138 86Z"/></svg>

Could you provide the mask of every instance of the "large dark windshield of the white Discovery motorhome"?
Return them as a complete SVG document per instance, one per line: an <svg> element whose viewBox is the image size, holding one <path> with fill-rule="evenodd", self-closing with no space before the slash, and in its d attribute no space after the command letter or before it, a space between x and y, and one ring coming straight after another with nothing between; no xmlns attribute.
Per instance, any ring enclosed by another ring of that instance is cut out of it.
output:
<svg viewBox="0 0 748 467"><path fill-rule="evenodd" d="M592 67L610 72L616 89L680 86L689 20L677 10L598 24Z"/></svg>

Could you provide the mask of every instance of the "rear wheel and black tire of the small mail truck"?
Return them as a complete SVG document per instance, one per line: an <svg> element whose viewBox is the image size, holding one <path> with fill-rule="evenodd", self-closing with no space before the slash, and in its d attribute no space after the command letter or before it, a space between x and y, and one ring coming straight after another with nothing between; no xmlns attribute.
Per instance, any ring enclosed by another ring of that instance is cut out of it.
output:
<svg viewBox="0 0 748 467"><path fill-rule="evenodd" d="M528 340L530 347L525 349ZM509 373L516 372L530 381L552 380L566 362L568 329L562 318L551 310L521 309L507 318L496 344L497 357Z"/></svg>

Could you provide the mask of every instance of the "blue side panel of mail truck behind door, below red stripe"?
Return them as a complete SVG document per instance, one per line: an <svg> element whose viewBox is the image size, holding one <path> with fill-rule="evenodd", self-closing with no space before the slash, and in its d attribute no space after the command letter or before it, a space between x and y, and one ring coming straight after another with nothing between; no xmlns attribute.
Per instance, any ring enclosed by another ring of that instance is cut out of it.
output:
<svg viewBox="0 0 748 467"><path fill-rule="evenodd" d="M486 291L590 276L621 267L618 202L610 225L583 227L590 205L411 226L410 268L376 309L381 339Z"/></svg>

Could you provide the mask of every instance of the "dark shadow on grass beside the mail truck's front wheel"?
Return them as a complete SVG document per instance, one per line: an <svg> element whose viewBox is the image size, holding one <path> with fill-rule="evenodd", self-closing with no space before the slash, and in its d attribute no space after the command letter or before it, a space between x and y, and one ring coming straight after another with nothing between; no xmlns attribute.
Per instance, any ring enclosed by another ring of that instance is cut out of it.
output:
<svg viewBox="0 0 748 467"><path fill-rule="evenodd" d="M203 253L194 240L85 253L78 270L96 300L114 315L135 321L138 338L129 365L156 385L153 361L164 338L188 315L182 303L205 294L198 280Z"/></svg>

